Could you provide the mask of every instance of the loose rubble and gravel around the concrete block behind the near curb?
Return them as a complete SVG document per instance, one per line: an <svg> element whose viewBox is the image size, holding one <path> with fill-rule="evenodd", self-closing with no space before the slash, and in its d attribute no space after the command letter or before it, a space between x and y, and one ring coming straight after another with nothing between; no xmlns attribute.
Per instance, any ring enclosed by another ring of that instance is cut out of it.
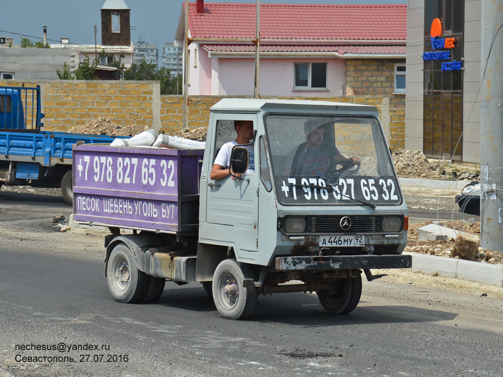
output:
<svg viewBox="0 0 503 377"><path fill-rule="evenodd" d="M459 258L459 256L455 255L456 252L454 251L454 241L449 242L438 240L418 240L417 230L428 224L432 224L432 221L425 221L418 224L409 224L407 246L405 247L405 251L420 254L437 255L448 258ZM442 222L442 226L480 237L480 222L478 221L474 223L465 222L464 220L459 222ZM503 252L488 251L479 247L475 256L475 261L481 263L503 265Z"/></svg>

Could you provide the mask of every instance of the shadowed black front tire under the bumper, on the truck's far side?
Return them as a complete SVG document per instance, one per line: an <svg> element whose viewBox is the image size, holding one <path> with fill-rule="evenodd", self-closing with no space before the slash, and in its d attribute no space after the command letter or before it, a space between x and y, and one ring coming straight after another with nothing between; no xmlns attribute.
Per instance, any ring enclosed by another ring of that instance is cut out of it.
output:
<svg viewBox="0 0 503 377"><path fill-rule="evenodd" d="M329 295L317 292L321 306L330 313L347 314L352 312L360 302L362 296L362 276L347 276L337 280L336 294Z"/></svg>

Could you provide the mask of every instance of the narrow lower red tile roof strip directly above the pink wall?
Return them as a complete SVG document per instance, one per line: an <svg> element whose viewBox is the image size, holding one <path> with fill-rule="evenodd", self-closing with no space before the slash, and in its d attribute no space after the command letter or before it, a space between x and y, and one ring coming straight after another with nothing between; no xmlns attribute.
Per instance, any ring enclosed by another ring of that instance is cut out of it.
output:
<svg viewBox="0 0 503 377"><path fill-rule="evenodd" d="M211 44L204 45L210 52L255 52L252 44ZM403 54L405 45L260 45L261 53L287 53L287 52L333 52L343 54Z"/></svg>

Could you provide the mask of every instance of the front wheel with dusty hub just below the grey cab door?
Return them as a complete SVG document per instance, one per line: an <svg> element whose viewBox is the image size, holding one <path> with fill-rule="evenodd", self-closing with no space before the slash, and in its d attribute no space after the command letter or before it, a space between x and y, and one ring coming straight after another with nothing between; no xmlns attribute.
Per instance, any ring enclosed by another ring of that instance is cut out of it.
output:
<svg viewBox="0 0 503 377"><path fill-rule="evenodd" d="M251 268L235 259L224 259L215 269L213 301L223 318L243 319L255 309L257 289L243 287L243 280L249 278L254 278Z"/></svg>

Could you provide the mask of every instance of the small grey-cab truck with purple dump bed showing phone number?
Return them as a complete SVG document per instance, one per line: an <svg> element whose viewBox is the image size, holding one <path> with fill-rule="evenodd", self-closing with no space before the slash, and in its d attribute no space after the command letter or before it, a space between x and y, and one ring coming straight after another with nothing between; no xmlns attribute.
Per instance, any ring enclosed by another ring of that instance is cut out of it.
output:
<svg viewBox="0 0 503 377"><path fill-rule="evenodd" d="M254 161L237 145L233 176L213 180L236 120L254 124ZM360 163L329 158L323 174L299 175L292 159L303 159L306 124ZM75 221L110 229L105 277L121 303L154 302L171 280L202 283L228 319L284 292L315 292L345 314L360 301L362 271L372 280L372 269L411 267L407 207L372 106L223 99L204 149L74 145L73 174Z"/></svg>

